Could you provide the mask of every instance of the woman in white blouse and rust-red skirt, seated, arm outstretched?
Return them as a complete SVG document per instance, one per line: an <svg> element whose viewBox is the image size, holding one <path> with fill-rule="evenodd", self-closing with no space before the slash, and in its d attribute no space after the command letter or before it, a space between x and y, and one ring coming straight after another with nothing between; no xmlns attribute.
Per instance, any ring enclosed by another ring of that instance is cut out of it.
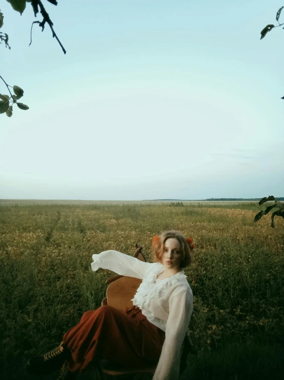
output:
<svg viewBox="0 0 284 380"><path fill-rule="evenodd" d="M178 231L153 238L153 259L143 262L118 251L92 255L91 268L142 279L132 308L102 306L83 314L61 345L28 361L28 372L48 373L62 365L59 378L75 378L90 362L108 359L129 367L157 364L153 380L177 380L180 352L188 334L193 294L183 268L195 245Z"/></svg>

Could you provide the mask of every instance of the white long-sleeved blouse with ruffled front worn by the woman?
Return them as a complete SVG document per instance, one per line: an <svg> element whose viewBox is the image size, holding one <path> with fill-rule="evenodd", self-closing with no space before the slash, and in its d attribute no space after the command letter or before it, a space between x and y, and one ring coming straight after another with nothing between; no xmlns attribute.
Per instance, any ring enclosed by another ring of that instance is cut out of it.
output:
<svg viewBox="0 0 284 380"><path fill-rule="evenodd" d="M193 311L193 293L187 276L177 274L157 279L163 272L160 262L144 262L118 251L92 255L91 268L108 269L122 276L142 279L133 305L138 306L149 322L165 331L165 340L153 380L178 380L180 354Z"/></svg>

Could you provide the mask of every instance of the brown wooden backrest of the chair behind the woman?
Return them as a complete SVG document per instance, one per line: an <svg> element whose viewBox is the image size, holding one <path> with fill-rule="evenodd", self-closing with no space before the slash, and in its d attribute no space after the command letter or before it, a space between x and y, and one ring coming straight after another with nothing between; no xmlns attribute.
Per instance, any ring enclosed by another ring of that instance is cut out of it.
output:
<svg viewBox="0 0 284 380"><path fill-rule="evenodd" d="M141 252L143 247L136 246L137 251L134 254L138 260L147 261L143 253ZM139 278L128 276L113 276L107 279L106 283L109 284L106 290L106 298L103 299L102 305L109 305L118 310L124 308L131 308L137 289L139 288L142 280Z"/></svg>

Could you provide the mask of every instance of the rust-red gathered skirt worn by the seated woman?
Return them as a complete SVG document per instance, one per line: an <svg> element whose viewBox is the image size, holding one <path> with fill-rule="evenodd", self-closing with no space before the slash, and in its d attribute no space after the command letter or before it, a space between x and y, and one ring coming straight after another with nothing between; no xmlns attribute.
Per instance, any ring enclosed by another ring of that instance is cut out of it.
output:
<svg viewBox="0 0 284 380"><path fill-rule="evenodd" d="M150 323L137 306L123 312L101 306L84 313L79 324L64 334L72 355L67 368L81 372L93 360L101 359L127 367L155 365L164 339L165 332Z"/></svg>

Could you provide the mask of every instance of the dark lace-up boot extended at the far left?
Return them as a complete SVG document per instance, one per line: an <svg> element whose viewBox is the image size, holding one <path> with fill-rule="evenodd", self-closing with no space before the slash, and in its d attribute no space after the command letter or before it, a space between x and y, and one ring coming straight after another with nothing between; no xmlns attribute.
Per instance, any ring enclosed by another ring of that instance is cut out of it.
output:
<svg viewBox="0 0 284 380"><path fill-rule="evenodd" d="M71 358L71 352L66 345L61 344L44 355L33 356L28 360L27 372L33 375L50 373L63 366L66 359Z"/></svg>

